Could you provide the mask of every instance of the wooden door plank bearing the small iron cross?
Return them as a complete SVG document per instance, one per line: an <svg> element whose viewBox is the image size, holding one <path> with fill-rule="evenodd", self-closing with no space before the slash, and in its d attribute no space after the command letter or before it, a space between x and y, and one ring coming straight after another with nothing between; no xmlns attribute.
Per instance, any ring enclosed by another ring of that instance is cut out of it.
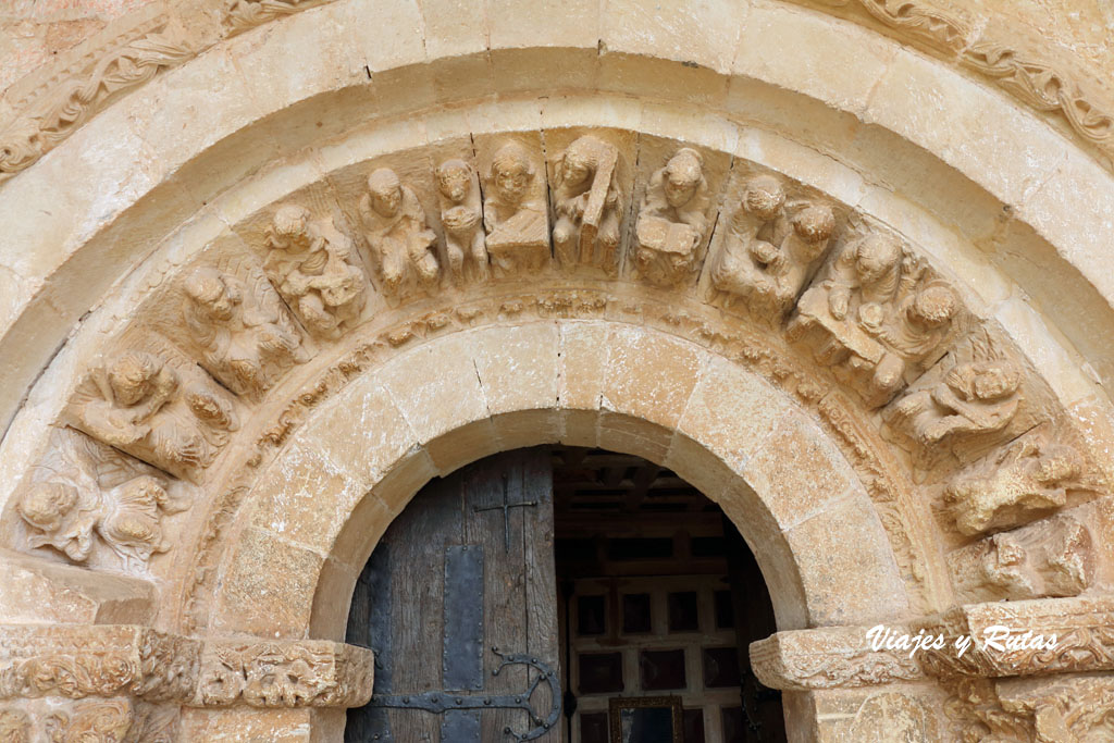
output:
<svg viewBox="0 0 1114 743"><path fill-rule="evenodd" d="M466 479L465 536L470 544L483 546L487 574L483 579L483 635L486 693L519 694L527 687L526 669L508 666L494 675L499 658L491 652L521 653L526 646L526 590L522 559L522 512L528 507L502 510L504 476L507 476L508 504L521 502L510 483L518 480L516 470L520 454L511 452L491 457L468 468ZM496 508L499 507L499 508ZM476 510L492 509L492 510ZM509 532L509 541L507 536ZM483 741L507 740L504 729L519 732L530 727L521 710L485 710L480 716Z"/></svg>

